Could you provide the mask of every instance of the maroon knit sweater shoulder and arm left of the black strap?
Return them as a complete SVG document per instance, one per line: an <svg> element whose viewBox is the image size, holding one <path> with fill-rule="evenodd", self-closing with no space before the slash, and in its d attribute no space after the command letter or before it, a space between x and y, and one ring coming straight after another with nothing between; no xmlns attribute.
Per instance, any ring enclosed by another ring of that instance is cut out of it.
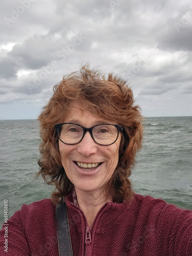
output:
<svg viewBox="0 0 192 256"><path fill-rule="evenodd" d="M46 250L57 250L55 206L50 199L24 204L6 224L10 255L42 255ZM2 228L0 247L5 242L4 236Z"/></svg>

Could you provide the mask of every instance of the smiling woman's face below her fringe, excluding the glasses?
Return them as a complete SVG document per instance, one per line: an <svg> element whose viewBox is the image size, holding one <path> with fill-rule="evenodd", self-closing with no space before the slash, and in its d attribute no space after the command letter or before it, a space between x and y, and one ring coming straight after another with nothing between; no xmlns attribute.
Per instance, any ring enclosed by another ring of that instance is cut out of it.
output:
<svg viewBox="0 0 192 256"><path fill-rule="evenodd" d="M84 109L83 112L73 105L71 111L63 122L72 122L84 127L92 127L100 123L114 123L94 116ZM119 160L119 145L121 134L115 143L108 146L94 142L91 134L87 132L83 139L75 144L64 144L59 140L59 152L62 165L75 188L81 191L102 191L112 177ZM82 167L76 163L79 162ZM89 164L86 168L86 164ZM92 164L92 165L90 165ZM98 165L97 167L90 167Z"/></svg>

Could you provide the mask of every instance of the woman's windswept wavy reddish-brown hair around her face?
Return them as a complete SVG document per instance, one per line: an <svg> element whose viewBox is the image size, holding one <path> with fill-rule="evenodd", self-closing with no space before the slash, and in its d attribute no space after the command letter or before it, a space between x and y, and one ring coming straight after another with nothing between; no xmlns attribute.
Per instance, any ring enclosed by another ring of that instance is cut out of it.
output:
<svg viewBox="0 0 192 256"><path fill-rule="evenodd" d="M89 65L85 65L80 71L64 76L54 86L53 92L52 98L38 117L41 157L37 174L48 184L56 186L51 197L52 202L61 202L73 186L61 164L58 135L54 125L65 122L71 105L76 102L79 102L79 108L86 105L92 114L123 127L119 162L105 193L110 194L114 202L131 200L134 193L129 177L136 153L141 148L143 126L140 108L134 105L133 92L127 82L113 73L105 77L97 69L91 70Z"/></svg>

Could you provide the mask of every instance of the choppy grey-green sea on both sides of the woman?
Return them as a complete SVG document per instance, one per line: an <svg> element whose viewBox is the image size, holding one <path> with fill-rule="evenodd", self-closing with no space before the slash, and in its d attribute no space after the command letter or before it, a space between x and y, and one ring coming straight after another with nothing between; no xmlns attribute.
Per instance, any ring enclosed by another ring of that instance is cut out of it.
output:
<svg viewBox="0 0 192 256"><path fill-rule="evenodd" d="M23 204L50 198L38 172L37 120L0 120L0 226ZM192 210L192 116L145 117L143 147L132 170L135 193ZM7 202L7 201L6 201Z"/></svg>

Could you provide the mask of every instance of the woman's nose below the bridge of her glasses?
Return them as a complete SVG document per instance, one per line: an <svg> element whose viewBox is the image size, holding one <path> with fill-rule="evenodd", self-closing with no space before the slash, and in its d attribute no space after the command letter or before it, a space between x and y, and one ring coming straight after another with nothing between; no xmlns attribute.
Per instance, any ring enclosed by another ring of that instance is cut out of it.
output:
<svg viewBox="0 0 192 256"><path fill-rule="evenodd" d="M78 144L77 152L85 157L89 157L92 154L96 154L97 150L98 144L92 139L90 132L86 132Z"/></svg>

